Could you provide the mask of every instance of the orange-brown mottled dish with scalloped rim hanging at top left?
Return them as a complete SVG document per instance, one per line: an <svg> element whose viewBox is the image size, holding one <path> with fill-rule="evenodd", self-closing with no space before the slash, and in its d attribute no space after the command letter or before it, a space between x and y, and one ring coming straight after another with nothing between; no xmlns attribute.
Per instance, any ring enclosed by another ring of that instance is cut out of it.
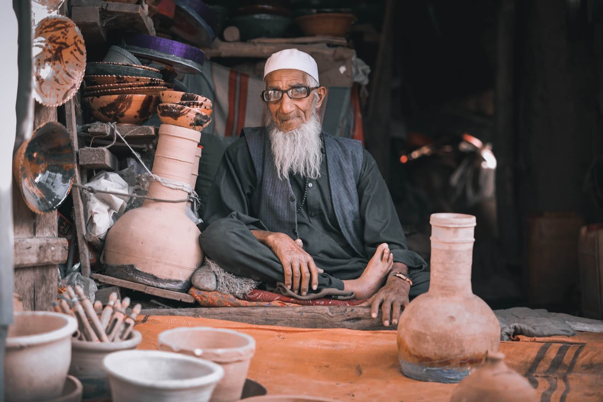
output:
<svg viewBox="0 0 603 402"><path fill-rule="evenodd" d="M86 46L80 30L68 17L46 17L36 25L33 39L34 98L59 106L80 88L86 70Z"/></svg>

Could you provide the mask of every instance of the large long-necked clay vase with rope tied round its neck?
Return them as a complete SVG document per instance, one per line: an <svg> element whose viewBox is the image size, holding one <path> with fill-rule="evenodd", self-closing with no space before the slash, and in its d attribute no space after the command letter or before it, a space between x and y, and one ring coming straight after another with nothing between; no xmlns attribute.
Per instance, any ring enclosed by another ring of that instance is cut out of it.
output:
<svg viewBox="0 0 603 402"><path fill-rule="evenodd" d="M199 131L162 124L153 174L189 184L200 138ZM188 193L153 181L147 195L184 201L167 203L145 199L142 207L126 212L107 233L105 263L135 265L140 271L159 278L154 286L161 287L162 280L184 283L203 261L198 241L201 232L185 213Z"/></svg>

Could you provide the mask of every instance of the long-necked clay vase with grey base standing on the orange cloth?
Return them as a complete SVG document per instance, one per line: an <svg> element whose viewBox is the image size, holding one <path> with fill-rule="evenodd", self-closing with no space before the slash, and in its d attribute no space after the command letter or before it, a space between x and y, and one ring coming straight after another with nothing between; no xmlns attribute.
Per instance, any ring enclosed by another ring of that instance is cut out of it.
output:
<svg viewBox="0 0 603 402"><path fill-rule="evenodd" d="M500 324L473 294L475 216L431 215L431 283L398 322L398 357L406 377L456 383L498 351Z"/></svg>

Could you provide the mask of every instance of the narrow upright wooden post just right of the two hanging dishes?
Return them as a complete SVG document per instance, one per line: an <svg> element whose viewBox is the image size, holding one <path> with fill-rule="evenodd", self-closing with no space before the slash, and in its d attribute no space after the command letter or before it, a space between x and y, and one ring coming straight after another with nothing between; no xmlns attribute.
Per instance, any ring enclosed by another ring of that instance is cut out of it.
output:
<svg viewBox="0 0 603 402"><path fill-rule="evenodd" d="M77 142L77 125L75 124L75 103L74 99L69 100L65 104L65 126L71 134L71 140L74 145L74 156L77 160L78 142ZM80 169L75 169L74 183L83 184ZM74 201L74 218L75 231L77 233L77 243L80 255L80 269L84 277L90 277L90 257L88 256L88 247L86 245L86 215L84 214L84 201L79 189L75 187L71 190L71 195Z"/></svg>

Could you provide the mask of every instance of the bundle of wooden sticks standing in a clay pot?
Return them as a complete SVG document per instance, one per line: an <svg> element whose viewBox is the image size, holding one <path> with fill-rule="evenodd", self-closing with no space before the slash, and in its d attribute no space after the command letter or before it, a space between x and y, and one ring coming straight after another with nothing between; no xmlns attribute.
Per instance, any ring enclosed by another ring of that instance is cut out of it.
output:
<svg viewBox="0 0 603 402"><path fill-rule="evenodd" d="M67 287L66 294L58 295L59 300L52 303L57 313L74 316L78 321L77 338L81 341L116 342L125 341L134 328L134 320L142 306L136 304L130 314L125 311L130 306L130 298L117 300L117 294L109 295L109 302L103 308L101 301L94 304L84 294L81 286Z"/></svg>

